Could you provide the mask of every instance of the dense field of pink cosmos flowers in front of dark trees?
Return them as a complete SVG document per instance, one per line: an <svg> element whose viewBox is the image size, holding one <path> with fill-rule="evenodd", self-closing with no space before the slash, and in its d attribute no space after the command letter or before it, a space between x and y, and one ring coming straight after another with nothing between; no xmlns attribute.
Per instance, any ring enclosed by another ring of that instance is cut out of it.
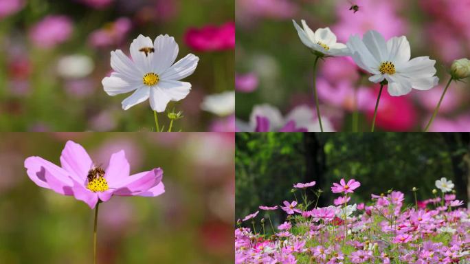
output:
<svg viewBox="0 0 470 264"><path fill-rule="evenodd" d="M260 206L238 220L236 263L470 263L470 211L456 200L454 184L436 180L427 199L405 204L404 193L372 194L354 203L360 182L341 179L331 192L334 205L318 208L307 192L320 198L315 181L295 184L295 200L283 206ZM287 217L273 226L269 213ZM244 227L242 227L242 225ZM247 226L250 226L248 228Z"/></svg>

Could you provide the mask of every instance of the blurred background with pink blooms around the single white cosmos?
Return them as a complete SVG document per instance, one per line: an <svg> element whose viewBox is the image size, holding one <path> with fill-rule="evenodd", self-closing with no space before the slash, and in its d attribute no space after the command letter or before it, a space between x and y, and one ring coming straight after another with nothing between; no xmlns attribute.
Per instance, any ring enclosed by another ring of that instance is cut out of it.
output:
<svg viewBox="0 0 470 264"><path fill-rule="evenodd" d="M209 94L234 89L234 0L0 1L0 131L151 131L148 101L108 96L110 52L129 54L139 34L174 36L177 60L199 56L192 91L167 110L179 131L234 131L234 117L201 110ZM168 119L160 122L168 128Z"/></svg>

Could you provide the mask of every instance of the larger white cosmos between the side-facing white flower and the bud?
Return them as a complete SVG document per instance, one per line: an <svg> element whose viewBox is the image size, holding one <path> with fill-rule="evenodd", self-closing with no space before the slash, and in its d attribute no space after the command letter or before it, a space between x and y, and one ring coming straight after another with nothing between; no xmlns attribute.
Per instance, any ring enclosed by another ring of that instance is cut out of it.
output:
<svg viewBox="0 0 470 264"><path fill-rule="evenodd" d="M405 36L394 36L385 42L379 32L369 30L362 40L357 35L350 36L346 45L355 63L373 74L369 78L372 83L388 81L391 96L403 96L412 88L428 90L438 83L434 76L436 61L427 56L410 60L410 43Z"/></svg>

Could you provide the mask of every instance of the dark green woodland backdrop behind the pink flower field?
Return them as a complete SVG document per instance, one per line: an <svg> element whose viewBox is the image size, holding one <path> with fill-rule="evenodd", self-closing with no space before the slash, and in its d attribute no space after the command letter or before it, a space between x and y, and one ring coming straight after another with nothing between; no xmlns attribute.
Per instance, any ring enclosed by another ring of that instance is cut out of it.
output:
<svg viewBox="0 0 470 264"><path fill-rule="evenodd" d="M313 190L323 190L318 206L333 205L331 186L342 178L361 183L350 203L392 189L405 194L407 205L414 203L413 187L418 200L434 198L435 181L446 177L457 199L470 206L469 133L236 133L235 160L236 219L260 205L295 200L291 190L298 182L316 181ZM285 219L280 210L268 212L273 224Z"/></svg>

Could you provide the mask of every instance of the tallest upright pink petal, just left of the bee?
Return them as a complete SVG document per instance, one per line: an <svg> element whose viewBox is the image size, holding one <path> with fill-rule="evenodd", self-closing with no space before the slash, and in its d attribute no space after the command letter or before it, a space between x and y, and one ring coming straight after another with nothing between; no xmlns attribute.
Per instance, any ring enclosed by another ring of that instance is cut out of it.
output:
<svg viewBox="0 0 470 264"><path fill-rule="evenodd" d="M91 162L85 148L69 140L65 144L62 155L60 155L60 164L62 164L62 168L70 173L71 177L82 183L85 182L93 162Z"/></svg>

